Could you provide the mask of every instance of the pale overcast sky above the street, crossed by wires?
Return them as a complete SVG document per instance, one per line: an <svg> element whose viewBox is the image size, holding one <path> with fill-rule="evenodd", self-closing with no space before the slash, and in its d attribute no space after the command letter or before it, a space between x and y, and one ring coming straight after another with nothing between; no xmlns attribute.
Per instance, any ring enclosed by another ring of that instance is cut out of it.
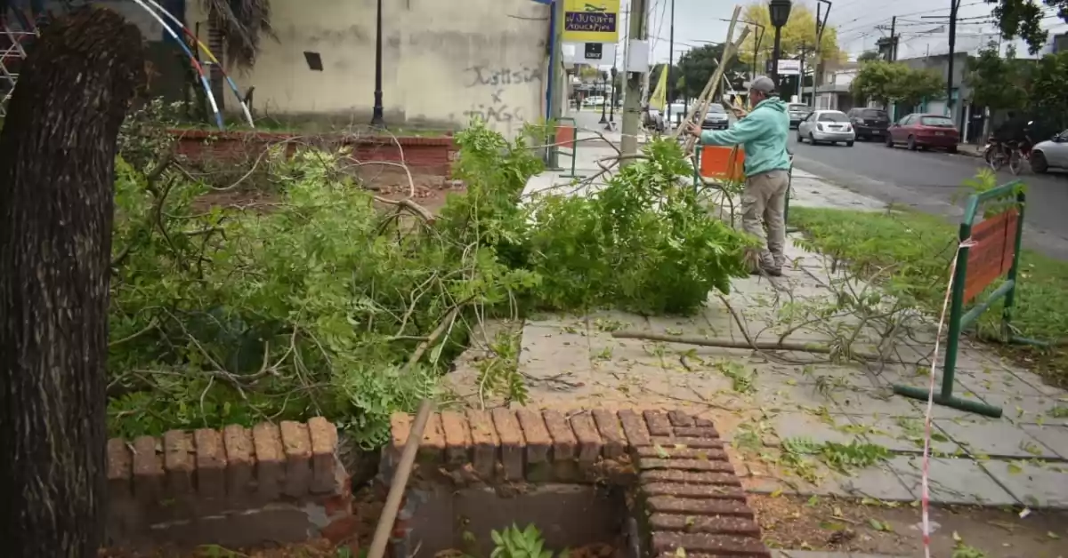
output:
<svg viewBox="0 0 1068 558"><path fill-rule="evenodd" d="M671 22L672 0L647 0L651 2L651 19L649 26L649 43L653 49L653 62L668 61L669 30ZM957 26L956 50L970 51L979 48L991 39L996 41L996 29L990 18L993 4L981 0L959 0L959 23ZM721 0L674 0L675 2L675 60L681 51L701 46L702 42L722 42L726 37L727 21L736 2ZM623 0L623 11L629 10L629 0ZM750 2L739 1L738 4ZM816 13L815 0L795 0L806 4ZM942 5L944 4L944 5ZM1065 25L1047 9L1048 17L1043 27L1053 33L1068 31ZM892 16L897 16L897 32L901 37L898 46L898 59L944 54L948 51L948 41L944 20L932 19L931 16L948 16L949 0L837 0L832 3L829 26L838 29L838 46L849 52L854 59L865 50L875 48L875 42L881 36L889 36L890 31L878 30L877 26L890 27ZM626 34L626 14L621 30L621 45ZM769 34L771 30L768 31ZM1020 54L1026 52L1022 43L1017 47ZM623 62L623 48L617 49L618 62Z"/></svg>

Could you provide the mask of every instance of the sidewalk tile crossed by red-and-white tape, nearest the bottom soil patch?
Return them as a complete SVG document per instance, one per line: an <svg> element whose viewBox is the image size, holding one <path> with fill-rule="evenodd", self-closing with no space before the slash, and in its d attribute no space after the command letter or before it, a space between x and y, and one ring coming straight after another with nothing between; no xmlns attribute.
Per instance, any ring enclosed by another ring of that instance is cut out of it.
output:
<svg viewBox="0 0 1068 558"><path fill-rule="evenodd" d="M890 466L918 499L922 494L922 464L920 457L898 457L890 460ZM986 469L970 459L930 460L931 501L936 504L961 504L978 506L1010 506L1017 499L1005 491Z"/></svg>

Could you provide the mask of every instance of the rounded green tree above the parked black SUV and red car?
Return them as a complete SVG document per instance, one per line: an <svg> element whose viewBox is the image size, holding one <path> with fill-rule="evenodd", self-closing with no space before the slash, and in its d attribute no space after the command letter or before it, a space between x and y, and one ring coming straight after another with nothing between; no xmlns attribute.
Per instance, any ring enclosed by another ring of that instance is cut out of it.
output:
<svg viewBox="0 0 1068 558"><path fill-rule="evenodd" d="M874 99L884 107L891 102L907 106L925 98L945 95L945 79L927 69L913 69L900 62L873 60L861 65L850 89L860 99Z"/></svg>

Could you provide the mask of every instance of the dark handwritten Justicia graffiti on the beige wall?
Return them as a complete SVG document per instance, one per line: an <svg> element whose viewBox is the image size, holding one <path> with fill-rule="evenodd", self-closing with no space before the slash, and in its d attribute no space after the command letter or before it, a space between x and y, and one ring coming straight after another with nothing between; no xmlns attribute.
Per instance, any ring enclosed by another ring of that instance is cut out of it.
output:
<svg viewBox="0 0 1068 558"><path fill-rule="evenodd" d="M470 76L467 89L471 90L473 100L464 112L466 119L478 118L511 138L528 117L538 115L537 110L529 110L521 100L540 98L540 68L472 66L467 71Z"/></svg>

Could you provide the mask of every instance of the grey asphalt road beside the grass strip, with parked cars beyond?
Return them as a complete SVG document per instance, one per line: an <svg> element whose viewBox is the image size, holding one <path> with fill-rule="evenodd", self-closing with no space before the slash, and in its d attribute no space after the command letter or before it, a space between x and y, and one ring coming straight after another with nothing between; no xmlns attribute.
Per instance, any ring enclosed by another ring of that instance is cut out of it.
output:
<svg viewBox="0 0 1068 558"><path fill-rule="evenodd" d="M882 143L844 145L799 144L790 132L794 164L854 192L883 202L959 219L961 202L953 196L963 180L985 166L981 159L944 152L909 152ZM1004 184L1020 178L1027 186L1024 243L1049 256L1068 260L1068 174L1036 175L1024 169L1019 177L999 173Z"/></svg>

